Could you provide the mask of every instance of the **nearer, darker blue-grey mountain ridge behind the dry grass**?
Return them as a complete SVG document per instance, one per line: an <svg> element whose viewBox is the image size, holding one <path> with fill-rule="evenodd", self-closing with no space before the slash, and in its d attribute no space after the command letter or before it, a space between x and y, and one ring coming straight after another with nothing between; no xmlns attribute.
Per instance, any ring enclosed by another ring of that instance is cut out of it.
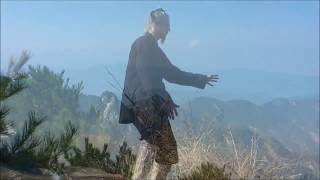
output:
<svg viewBox="0 0 320 180"><path fill-rule="evenodd" d="M101 97L80 96L82 110L96 107L101 121L112 124L112 134L137 141L138 133L132 125L118 124L119 105L120 100L109 91L105 91ZM111 112L113 118L110 118ZM197 97L182 104L178 114L172 121L175 129L183 128L186 122L195 130L213 123L210 127L216 131L215 138L222 141L223 131L230 128L239 134L241 144L246 145L250 144L254 130L265 141L269 139L272 144L277 144L277 149L282 149L280 154L288 155L287 152L291 152L292 155L305 154L319 159L319 99L277 98L257 105L248 100L223 101Z"/></svg>

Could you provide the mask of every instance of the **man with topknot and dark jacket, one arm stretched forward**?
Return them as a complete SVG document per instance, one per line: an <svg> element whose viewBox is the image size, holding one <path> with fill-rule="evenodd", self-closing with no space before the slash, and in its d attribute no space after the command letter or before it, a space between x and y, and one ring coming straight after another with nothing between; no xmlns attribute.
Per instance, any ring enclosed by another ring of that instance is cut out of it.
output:
<svg viewBox="0 0 320 180"><path fill-rule="evenodd" d="M169 119L178 115L176 105L162 82L204 89L218 75L181 71L171 64L158 40L170 31L169 16L159 8L150 13L145 34L131 46L122 94L119 123L133 123L141 134L133 180L164 180L178 162L177 144ZM150 173L149 173L150 172Z"/></svg>

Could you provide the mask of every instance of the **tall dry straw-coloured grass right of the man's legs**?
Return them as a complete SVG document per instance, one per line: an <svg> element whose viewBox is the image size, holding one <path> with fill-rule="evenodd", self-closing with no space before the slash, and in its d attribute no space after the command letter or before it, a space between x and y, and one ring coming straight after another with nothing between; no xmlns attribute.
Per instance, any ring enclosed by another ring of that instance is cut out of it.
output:
<svg viewBox="0 0 320 180"><path fill-rule="evenodd" d="M169 179L177 179L190 174L193 169L204 162L210 162L218 167L226 166L226 171L232 173L233 179L257 179L259 177L261 179L296 179L301 177L302 174L295 171L299 169L297 160L259 159L262 157L258 155L262 153L260 152L262 147L258 146L260 138L255 131L247 147L237 143L239 137L234 137L231 129L226 132L225 142L218 142L213 136L216 119L200 121L200 127L196 130L188 123L190 119L187 117L191 116L184 114L184 117L186 117L182 120L184 127L174 129L179 163L173 166Z"/></svg>

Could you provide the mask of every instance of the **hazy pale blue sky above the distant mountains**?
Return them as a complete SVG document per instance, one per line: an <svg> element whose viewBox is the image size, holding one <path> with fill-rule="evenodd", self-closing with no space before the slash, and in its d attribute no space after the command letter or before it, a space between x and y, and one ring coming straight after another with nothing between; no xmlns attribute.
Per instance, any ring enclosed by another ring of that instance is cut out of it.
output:
<svg viewBox="0 0 320 180"><path fill-rule="evenodd" d="M53 69L126 64L158 7L171 18L162 47L179 67L319 74L318 1L1 1L1 69L23 49Z"/></svg>

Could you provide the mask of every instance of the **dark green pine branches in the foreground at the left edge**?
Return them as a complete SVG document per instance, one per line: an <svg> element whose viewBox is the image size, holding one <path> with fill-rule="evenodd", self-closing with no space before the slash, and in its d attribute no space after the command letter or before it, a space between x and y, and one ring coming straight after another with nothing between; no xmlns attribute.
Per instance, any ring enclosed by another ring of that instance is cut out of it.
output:
<svg viewBox="0 0 320 180"><path fill-rule="evenodd" d="M10 108L5 101L26 88L28 75L19 71L29 58L27 51L22 53L19 62L12 58L7 75L0 75L0 165L32 172L41 167L62 173L63 163L58 158L72 148L77 134L70 122L59 137L49 134L40 138L35 131L46 117L31 111L22 131L11 133L14 124L7 119Z"/></svg>

